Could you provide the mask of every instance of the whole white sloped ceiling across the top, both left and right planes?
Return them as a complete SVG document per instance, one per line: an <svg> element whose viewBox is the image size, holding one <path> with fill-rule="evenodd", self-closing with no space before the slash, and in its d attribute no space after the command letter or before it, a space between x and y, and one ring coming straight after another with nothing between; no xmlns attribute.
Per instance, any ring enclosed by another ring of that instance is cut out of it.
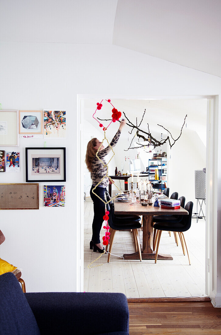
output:
<svg viewBox="0 0 221 335"><path fill-rule="evenodd" d="M221 77L221 0L1 0L0 41L115 44Z"/></svg>

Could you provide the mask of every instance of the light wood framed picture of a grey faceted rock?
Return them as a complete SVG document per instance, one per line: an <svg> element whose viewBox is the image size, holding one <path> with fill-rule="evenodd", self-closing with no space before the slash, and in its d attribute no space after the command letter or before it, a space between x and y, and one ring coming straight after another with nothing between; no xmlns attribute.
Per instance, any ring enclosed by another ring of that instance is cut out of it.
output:
<svg viewBox="0 0 221 335"><path fill-rule="evenodd" d="M43 111L19 111L19 134L43 134Z"/></svg>

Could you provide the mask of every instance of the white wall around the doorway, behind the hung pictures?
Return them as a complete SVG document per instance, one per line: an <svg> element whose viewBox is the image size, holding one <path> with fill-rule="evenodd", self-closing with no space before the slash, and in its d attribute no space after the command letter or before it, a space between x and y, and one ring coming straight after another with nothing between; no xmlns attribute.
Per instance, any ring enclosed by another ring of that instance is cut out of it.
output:
<svg viewBox="0 0 221 335"><path fill-rule="evenodd" d="M67 114L67 139L47 140L47 146L67 148L66 207L2 211L0 228L6 241L0 246L1 258L23 268L27 291L74 291L79 238L75 215L79 195L75 189L77 94L141 98L221 94L221 78L112 45L3 42L0 64L3 109L65 109ZM21 141L21 172L1 174L1 182L25 182L24 148L43 144L44 140ZM221 166L221 154L217 154ZM220 221L221 205L218 209ZM221 285L218 290L221 292Z"/></svg>

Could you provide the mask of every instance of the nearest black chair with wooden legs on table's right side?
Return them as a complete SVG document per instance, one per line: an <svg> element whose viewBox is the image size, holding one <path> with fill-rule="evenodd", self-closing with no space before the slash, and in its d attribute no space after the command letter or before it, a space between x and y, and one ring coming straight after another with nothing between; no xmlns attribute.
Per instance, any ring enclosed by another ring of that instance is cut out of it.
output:
<svg viewBox="0 0 221 335"><path fill-rule="evenodd" d="M184 231L187 231L188 229L190 229L191 227L191 219L192 219L192 211L193 211L193 202L189 201L186 206L185 209L189 212L188 215L183 215L182 220L179 222L174 222L173 221L167 221L167 222L160 222L160 223L155 223L153 225L154 229L158 230L158 238L157 239L157 248L156 248L156 255L155 255L155 263L157 261L157 255L158 255L158 249L159 249L159 243L160 243L160 237L161 237L161 233L162 231L174 231L174 232L178 232L179 234L179 238L180 238L180 242L181 242L181 246L182 246L182 251L183 254L185 255L185 248L184 248L184 244L183 241L185 243L186 249L187 249L187 244L183 235ZM187 255L189 258L189 263L190 263L190 257L189 257L189 253L187 250Z"/></svg>

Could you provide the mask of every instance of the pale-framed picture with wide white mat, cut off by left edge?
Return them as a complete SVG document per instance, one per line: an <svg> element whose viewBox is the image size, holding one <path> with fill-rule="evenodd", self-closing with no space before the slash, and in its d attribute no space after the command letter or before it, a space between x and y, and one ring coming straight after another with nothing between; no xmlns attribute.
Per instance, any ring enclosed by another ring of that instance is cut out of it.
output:
<svg viewBox="0 0 221 335"><path fill-rule="evenodd" d="M2 146L18 146L18 111L0 110L0 143Z"/></svg>

